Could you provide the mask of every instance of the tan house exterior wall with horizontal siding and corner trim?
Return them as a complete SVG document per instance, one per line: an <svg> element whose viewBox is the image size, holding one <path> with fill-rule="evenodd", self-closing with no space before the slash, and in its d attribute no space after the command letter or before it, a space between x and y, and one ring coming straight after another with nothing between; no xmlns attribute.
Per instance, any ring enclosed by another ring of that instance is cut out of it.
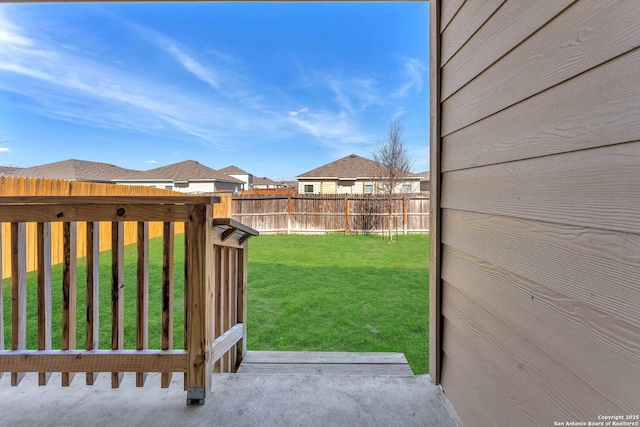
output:
<svg viewBox="0 0 640 427"><path fill-rule="evenodd" d="M637 414L638 3L430 7L431 375L465 425Z"/></svg>

